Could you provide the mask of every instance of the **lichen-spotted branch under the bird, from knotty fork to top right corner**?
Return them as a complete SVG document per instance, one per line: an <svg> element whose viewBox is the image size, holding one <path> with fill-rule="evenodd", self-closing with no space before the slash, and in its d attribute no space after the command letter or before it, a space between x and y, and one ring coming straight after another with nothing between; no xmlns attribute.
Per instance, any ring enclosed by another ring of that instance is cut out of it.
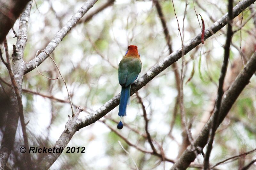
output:
<svg viewBox="0 0 256 170"><path fill-rule="evenodd" d="M235 18L239 13L241 13L244 9L246 9L248 6L250 6L252 3L254 3L255 0L244 0L240 1L239 4L237 4L233 8L233 18ZM218 21L216 21L211 27L205 30L204 39L206 40L210 36L212 36L214 33L219 31L222 27L224 27L228 23L228 13L226 13L224 16L222 16ZM193 39L188 41L184 44L184 55L187 54L190 50L194 49L197 45L201 43L201 34L196 35ZM171 55L164 58L161 62L159 62L156 66L151 68L147 73L145 73L136 83L136 85L132 85L131 88L131 95L134 94L136 91L141 89L143 86L145 86L149 81L151 81L156 75L164 71L167 67L171 66L174 62L178 61L182 57L181 48L177 51L174 51ZM101 117L106 115L109 111L114 109L119 104L120 94L113 97L111 100L109 100L107 103L105 103L103 106L101 106L98 110L91 113L90 115L80 118L79 119L79 127L83 128L85 126L88 126L95 121L99 120Z"/></svg>

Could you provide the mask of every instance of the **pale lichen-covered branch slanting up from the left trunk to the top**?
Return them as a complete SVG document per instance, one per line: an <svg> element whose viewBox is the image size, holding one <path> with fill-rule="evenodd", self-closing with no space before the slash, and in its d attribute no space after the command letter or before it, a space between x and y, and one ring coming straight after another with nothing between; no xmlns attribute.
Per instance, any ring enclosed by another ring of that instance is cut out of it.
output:
<svg viewBox="0 0 256 170"><path fill-rule="evenodd" d="M44 51L48 54L51 54L53 50L56 49L56 47L59 45L59 43L62 41L62 39L68 34L68 32L76 26L78 21L84 16L84 14L92 8L92 6L97 2L98 0L88 0L84 3L84 5L73 15L71 19L67 22L67 24L60 29L60 31L54 36L52 41L45 47ZM29 61L26 63L25 66L25 74L32 71L36 68L35 63L37 66L42 64L44 60L48 58L48 55L45 53L40 53L37 58Z"/></svg>

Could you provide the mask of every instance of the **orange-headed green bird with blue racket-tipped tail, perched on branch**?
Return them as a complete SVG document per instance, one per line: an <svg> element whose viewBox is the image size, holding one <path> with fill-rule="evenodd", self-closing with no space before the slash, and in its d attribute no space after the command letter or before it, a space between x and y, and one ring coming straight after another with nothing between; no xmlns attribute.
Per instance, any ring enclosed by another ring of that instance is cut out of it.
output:
<svg viewBox="0 0 256 170"><path fill-rule="evenodd" d="M122 87L118 112L118 116L120 116L120 122L117 125L118 129L124 127L122 117L126 116L126 107L127 104L130 104L131 85L139 79L141 69L142 63L138 47L129 45L118 67L118 81Z"/></svg>

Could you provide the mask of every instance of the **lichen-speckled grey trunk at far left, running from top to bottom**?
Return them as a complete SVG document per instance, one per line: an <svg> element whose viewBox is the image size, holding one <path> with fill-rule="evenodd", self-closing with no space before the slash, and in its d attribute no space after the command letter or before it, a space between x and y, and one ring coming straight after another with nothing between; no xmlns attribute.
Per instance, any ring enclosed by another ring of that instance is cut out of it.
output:
<svg viewBox="0 0 256 170"><path fill-rule="evenodd" d="M18 89L21 94L23 75L25 72L25 63L23 61L24 49L27 42L27 28L28 28L28 19L30 15L30 10L32 6L32 1L30 1L22 15L20 17L20 27L18 32L18 38L16 43L16 50L13 51L12 59L13 59L13 74L14 78L17 82ZM9 155L12 151L15 133L18 126L19 120L19 105L18 100L15 94L15 90L12 87L11 95L10 95L10 110L8 111L7 123L4 129L3 141L0 147L0 169L4 169L6 162L9 158Z"/></svg>

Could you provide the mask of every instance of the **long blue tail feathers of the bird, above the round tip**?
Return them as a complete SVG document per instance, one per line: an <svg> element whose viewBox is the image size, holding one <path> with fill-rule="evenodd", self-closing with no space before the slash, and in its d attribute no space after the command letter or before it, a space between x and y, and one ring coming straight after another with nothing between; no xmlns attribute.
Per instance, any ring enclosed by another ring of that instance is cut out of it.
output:
<svg viewBox="0 0 256 170"><path fill-rule="evenodd" d="M126 116L126 106L130 102L131 85L122 87L118 116Z"/></svg>

